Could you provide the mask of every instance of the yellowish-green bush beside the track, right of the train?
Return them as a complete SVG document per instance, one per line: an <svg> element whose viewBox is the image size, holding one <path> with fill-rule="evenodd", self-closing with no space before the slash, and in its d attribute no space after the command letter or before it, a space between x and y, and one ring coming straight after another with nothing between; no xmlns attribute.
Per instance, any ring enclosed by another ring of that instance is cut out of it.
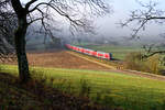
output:
<svg viewBox="0 0 165 110"><path fill-rule="evenodd" d="M124 68L153 74L162 74L163 68L161 67L160 58L160 55L153 55L148 58L143 58L142 53L130 53L124 59Z"/></svg>

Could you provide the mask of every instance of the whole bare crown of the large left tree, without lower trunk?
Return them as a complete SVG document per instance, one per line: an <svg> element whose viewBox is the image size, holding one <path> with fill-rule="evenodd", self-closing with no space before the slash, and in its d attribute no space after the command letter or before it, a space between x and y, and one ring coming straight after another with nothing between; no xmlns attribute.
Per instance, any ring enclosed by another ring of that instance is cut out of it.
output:
<svg viewBox="0 0 165 110"><path fill-rule="evenodd" d="M8 14L7 18L10 19L13 15L20 18L22 14L26 14L28 25L34 22L41 24L40 30L42 31L40 32L42 34L44 33L45 36L55 36L53 33L54 30L52 29L54 26L56 31L58 28L56 26L56 22L54 22L53 25L53 21L58 16L63 16L69 22L68 24L72 33L78 31L94 33L92 20L90 20L90 16L103 15L110 12L109 4L103 0L29 0L29 2L23 6L20 0L2 0L0 1L0 7L10 1L15 12L11 13L11 15ZM7 8L7 10L12 8ZM6 12L13 12L13 9ZM3 14L7 13L1 13L1 16ZM7 20L7 18L0 19L0 21Z"/></svg>

